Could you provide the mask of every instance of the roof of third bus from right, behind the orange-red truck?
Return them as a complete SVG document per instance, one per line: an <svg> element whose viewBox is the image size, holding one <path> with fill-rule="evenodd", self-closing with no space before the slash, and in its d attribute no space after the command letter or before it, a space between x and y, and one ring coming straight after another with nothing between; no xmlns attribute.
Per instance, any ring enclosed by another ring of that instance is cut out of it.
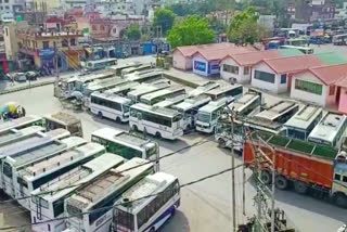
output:
<svg viewBox="0 0 347 232"><path fill-rule="evenodd" d="M283 115L284 113L291 111L293 107L297 107L297 106L298 104L292 101L280 101L271 105L269 108L256 114L255 118L267 120L267 121L273 121L279 116Z"/></svg>

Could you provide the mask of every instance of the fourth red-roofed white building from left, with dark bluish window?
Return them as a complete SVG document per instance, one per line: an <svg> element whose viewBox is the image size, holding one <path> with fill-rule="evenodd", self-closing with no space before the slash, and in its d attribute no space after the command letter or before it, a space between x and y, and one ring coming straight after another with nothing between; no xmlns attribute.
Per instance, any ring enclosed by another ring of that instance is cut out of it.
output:
<svg viewBox="0 0 347 232"><path fill-rule="evenodd" d="M316 55L261 60L253 66L252 86L272 93L287 92L294 74L322 65Z"/></svg>

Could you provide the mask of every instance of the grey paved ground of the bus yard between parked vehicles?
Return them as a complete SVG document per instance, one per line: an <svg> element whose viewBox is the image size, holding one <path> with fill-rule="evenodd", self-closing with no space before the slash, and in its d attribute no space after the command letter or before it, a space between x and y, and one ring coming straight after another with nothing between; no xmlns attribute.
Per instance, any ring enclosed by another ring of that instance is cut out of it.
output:
<svg viewBox="0 0 347 232"><path fill-rule="evenodd" d="M43 115L62 109L60 102L53 98L53 87L46 86L29 89L21 92L5 94L0 98L0 105L8 101L17 101L23 104L28 114ZM127 125L119 125L110 120L101 120L88 113L76 113L82 120L86 138L99 128L111 126L128 129ZM160 155L165 155L188 144L192 144L208 137L192 133L184 136L176 142L159 141ZM220 150L216 143L208 142L201 146L194 146L169 158L163 159L162 169L177 175L181 183L187 183L206 175L215 173L230 167L230 154L228 151ZM241 162L237 159L236 164ZM247 178L250 176L247 172ZM236 171L236 219L243 222L242 216L242 172ZM254 186L249 181L246 182L246 212L252 216L254 212L253 196ZM336 231L346 220L346 210L333 205L301 196L293 192L277 192L278 206L282 207L288 217L295 220L300 231ZM9 224L22 224L28 222L27 215L23 215L20 208L13 205L1 205L0 211L5 212L5 222ZM9 210L15 212L9 212ZM220 177L191 185L182 190L182 205L180 210L162 231L165 232L188 232L200 231L227 232L232 228L231 224L231 175L224 173ZM30 230L28 230L30 231Z"/></svg>

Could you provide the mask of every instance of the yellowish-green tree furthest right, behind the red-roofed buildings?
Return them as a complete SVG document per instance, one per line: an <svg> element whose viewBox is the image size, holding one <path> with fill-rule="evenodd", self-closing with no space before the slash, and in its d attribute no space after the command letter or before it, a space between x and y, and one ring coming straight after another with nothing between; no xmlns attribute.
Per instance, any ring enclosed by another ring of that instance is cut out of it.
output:
<svg viewBox="0 0 347 232"><path fill-rule="evenodd" d="M259 40L261 28L255 9L248 8L234 16L228 31L229 40L236 44L255 43Z"/></svg>

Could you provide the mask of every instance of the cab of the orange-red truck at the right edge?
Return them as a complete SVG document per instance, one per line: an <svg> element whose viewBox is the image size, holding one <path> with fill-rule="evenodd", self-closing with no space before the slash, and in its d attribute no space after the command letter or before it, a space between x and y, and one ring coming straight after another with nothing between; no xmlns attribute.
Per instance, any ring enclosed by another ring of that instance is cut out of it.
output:
<svg viewBox="0 0 347 232"><path fill-rule="evenodd" d="M342 151L334 160L332 193L335 204L347 208L347 153Z"/></svg>

